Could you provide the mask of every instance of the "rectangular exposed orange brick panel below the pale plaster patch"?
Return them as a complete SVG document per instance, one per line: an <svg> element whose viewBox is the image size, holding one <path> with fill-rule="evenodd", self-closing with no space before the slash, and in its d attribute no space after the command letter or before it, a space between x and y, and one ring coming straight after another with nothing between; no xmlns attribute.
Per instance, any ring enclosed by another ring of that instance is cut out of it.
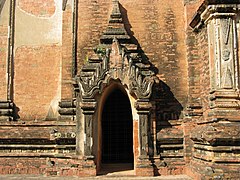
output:
<svg viewBox="0 0 240 180"><path fill-rule="evenodd" d="M19 47L15 56L14 102L21 119L56 118L61 47Z"/></svg>

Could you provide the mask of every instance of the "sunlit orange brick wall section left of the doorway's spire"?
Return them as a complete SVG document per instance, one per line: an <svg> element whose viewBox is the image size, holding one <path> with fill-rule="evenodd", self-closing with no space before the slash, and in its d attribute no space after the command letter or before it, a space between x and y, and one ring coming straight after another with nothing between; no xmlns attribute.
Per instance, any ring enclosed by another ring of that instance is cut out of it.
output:
<svg viewBox="0 0 240 180"><path fill-rule="evenodd" d="M111 12L111 0L82 0L78 6L78 70L99 44Z"/></svg>

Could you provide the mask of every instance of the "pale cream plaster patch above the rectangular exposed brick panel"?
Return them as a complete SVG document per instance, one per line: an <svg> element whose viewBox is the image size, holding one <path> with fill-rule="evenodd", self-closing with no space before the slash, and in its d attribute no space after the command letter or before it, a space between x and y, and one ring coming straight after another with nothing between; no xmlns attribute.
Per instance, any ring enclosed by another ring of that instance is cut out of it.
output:
<svg viewBox="0 0 240 180"><path fill-rule="evenodd" d="M48 18L16 9L15 47L62 43L62 1L54 0L55 13Z"/></svg>

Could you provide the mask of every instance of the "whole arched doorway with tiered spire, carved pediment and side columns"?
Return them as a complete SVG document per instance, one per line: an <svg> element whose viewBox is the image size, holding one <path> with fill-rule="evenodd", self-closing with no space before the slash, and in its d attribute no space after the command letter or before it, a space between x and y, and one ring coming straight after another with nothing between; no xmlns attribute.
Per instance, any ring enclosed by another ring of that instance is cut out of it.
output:
<svg viewBox="0 0 240 180"><path fill-rule="evenodd" d="M133 169L135 164L134 173L146 165L152 134L150 97L154 83L159 82L156 68L131 42L123 21L116 16L116 12L121 14L119 2L113 3L107 33L102 34L95 54L87 59L74 82L76 153L93 163L99 175L104 173L105 164L121 163L125 170L125 166L132 164Z"/></svg>

